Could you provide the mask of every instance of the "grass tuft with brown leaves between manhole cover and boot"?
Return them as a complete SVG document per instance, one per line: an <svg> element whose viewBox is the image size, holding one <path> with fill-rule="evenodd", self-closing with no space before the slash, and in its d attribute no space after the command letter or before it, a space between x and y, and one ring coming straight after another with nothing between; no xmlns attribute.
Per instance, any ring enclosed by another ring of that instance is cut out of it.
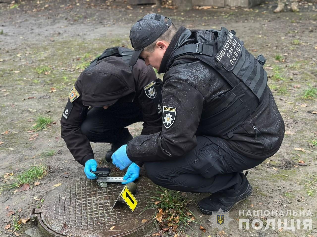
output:
<svg viewBox="0 0 317 237"><path fill-rule="evenodd" d="M173 227L184 229L189 222L195 222L195 215L187 208L191 200L182 196L180 191L173 191L163 187L158 187L153 191L151 200L154 202L147 206L143 211L151 208L157 209L156 219L159 220L161 228ZM198 223L198 222L195 222ZM191 228L192 229L192 228ZM192 229L193 230L193 229Z"/></svg>

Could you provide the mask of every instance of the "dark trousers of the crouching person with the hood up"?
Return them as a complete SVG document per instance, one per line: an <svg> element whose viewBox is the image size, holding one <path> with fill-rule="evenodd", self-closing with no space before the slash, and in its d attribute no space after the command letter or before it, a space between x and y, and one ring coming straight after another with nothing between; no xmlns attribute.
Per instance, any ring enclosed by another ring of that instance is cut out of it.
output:
<svg viewBox="0 0 317 237"><path fill-rule="evenodd" d="M129 136L126 126L140 121L143 121L142 112L136 102L117 102L107 109L88 110L81 132L90 142L115 143Z"/></svg>

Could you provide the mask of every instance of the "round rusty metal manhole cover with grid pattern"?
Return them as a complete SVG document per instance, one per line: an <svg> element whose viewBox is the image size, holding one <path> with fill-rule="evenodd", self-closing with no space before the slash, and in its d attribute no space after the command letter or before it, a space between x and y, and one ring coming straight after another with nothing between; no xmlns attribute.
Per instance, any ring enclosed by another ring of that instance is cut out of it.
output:
<svg viewBox="0 0 317 237"><path fill-rule="evenodd" d="M150 202L149 190L155 187L142 177L134 195L138 200L134 212L123 202L117 202L111 210L123 187L110 183L102 188L88 179L72 181L55 188L45 197L42 207L32 208L31 213L37 216L39 228L46 236L142 236L154 210L139 214Z"/></svg>

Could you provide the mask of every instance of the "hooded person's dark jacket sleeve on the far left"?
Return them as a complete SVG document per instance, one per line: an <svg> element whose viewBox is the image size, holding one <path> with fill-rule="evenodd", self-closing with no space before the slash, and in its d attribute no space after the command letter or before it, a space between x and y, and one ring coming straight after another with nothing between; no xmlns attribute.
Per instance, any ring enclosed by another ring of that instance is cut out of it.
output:
<svg viewBox="0 0 317 237"><path fill-rule="evenodd" d="M93 149L90 146L88 138L81 133L80 127L87 115L87 106L83 106L81 101L81 84L80 81L75 83L80 96L72 103L68 99L66 108L71 107L68 112L67 119L62 115L61 117L61 137L64 139L67 148L74 156L75 160L80 164L85 165L89 159L94 159ZM66 110L65 108L65 110ZM63 111L65 113L65 111Z"/></svg>

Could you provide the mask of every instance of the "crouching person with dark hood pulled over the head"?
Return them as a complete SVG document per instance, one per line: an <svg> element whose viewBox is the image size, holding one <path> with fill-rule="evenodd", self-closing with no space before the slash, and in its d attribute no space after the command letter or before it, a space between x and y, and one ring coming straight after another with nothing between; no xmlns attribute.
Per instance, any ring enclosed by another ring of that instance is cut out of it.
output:
<svg viewBox="0 0 317 237"><path fill-rule="evenodd" d="M107 49L78 77L61 117L61 137L75 160L94 179L97 162L89 142L112 143L106 161L133 137L125 128L144 121L142 135L161 131L161 81L151 66L138 59L128 62L132 50ZM88 107L91 106L89 109Z"/></svg>

